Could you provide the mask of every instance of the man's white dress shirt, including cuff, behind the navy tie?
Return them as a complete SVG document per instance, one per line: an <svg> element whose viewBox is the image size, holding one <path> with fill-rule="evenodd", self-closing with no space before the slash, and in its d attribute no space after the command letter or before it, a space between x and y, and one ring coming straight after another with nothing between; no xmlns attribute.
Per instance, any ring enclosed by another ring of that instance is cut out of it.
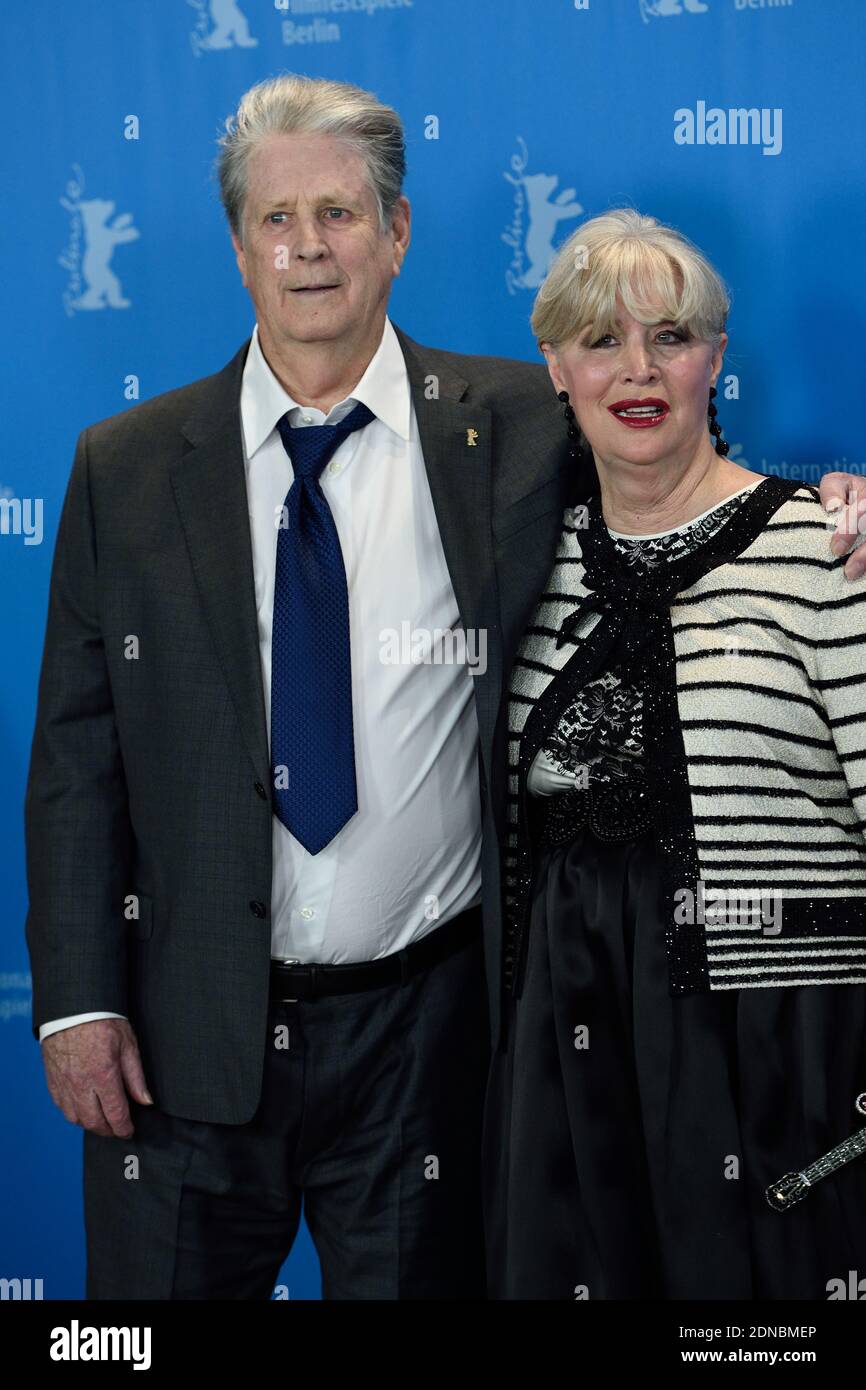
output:
<svg viewBox="0 0 866 1390"><path fill-rule="evenodd" d="M253 331L240 420L268 739L277 523L293 478L277 421L288 411L300 428L336 424L359 400L375 420L339 443L320 478L349 587L359 809L317 855L272 816L271 955L324 965L391 955L481 899L474 677L442 659L453 644L436 639L461 624L389 320L352 395L327 416L288 395ZM424 645L427 662L406 659ZM121 1015L57 1019L39 1040L92 1017Z"/></svg>

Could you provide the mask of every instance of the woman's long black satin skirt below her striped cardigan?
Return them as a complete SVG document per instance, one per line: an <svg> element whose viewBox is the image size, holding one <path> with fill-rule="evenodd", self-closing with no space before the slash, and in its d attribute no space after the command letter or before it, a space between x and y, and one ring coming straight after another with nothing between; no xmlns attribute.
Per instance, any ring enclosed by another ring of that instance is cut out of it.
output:
<svg viewBox="0 0 866 1390"><path fill-rule="evenodd" d="M538 856L509 1015L491 1298L826 1300L866 1279L866 1156L785 1212L765 1197L863 1123L866 986L671 995L652 833L581 831Z"/></svg>

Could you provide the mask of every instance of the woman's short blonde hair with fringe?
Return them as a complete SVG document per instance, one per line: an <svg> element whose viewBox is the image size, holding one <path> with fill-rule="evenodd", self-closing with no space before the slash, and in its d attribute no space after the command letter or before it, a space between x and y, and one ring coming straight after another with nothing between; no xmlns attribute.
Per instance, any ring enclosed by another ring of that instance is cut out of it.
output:
<svg viewBox="0 0 866 1390"><path fill-rule="evenodd" d="M557 348L587 328L591 342L613 332L617 295L639 322L670 320L713 348L731 303L719 272L683 232L619 207L582 222L559 247L532 307L537 341Z"/></svg>

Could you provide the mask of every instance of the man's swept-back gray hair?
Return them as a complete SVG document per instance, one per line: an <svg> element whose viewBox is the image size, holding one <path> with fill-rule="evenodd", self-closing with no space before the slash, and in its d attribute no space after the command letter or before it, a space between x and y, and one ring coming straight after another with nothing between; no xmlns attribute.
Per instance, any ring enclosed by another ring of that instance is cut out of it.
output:
<svg viewBox="0 0 866 1390"><path fill-rule="evenodd" d="M229 227L243 242L250 154L270 135L334 135L364 160L379 229L385 232L406 177L406 139L398 113L349 82L293 72L257 82L240 97L220 136L217 178Z"/></svg>

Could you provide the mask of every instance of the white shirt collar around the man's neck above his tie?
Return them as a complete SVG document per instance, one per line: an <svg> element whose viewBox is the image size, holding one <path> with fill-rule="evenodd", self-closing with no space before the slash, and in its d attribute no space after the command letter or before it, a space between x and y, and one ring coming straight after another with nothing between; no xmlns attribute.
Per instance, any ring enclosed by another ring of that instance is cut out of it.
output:
<svg viewBox="0 0 866 1390"><path fill-rule="evenodd" d="M359 400L363 400L400 439L409 439L409 373L389 318L385 318L379 346L370 359L364 375L349 396L332 406L325 417L327 423L336 424ZM256 324L240 384L240 423L247 459L261 448L286 410L296 409L302 410L303 406L293 400L271 371L259 342L259 324Z"/></svg>

